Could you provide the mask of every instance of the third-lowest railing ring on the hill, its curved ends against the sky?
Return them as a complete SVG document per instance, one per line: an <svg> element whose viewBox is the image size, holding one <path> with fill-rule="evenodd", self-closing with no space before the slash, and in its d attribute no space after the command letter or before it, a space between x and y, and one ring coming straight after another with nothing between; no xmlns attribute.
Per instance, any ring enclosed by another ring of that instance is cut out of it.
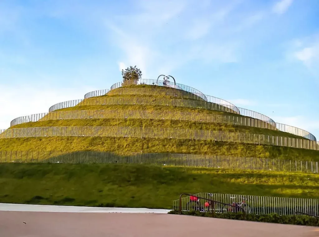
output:
<svg viewBox="0 0 319 237"><path fill-rule="evenodd" d="M211 122L226 123L231 125L249 126L270 130L279 130L281 125L289 127L290 134L308 138L308 132L298 128L277 123L277 128L270 123L251 117L243 117L237 115L217 115L209 113L188 112L179 110L70 110L57 111L50 113L40 113L15 118L11 121L10 126L26 122L48 121L48 120L64 120L64 119L167 119L167 120L183 120L194 122ZM309 138L308 138L309 139ZM310 139L312 140L312 139Z"/></svg>

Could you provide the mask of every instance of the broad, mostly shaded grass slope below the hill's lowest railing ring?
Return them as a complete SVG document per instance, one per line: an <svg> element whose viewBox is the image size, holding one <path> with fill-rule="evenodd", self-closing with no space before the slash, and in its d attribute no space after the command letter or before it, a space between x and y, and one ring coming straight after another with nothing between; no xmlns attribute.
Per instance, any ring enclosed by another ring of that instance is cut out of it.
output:
<svg viewBox="0 0 319 237"><path fill-rule="evenodd" d="M148 208L183 192L319 195L318 175L113 164L1 164L0 185L0 202Z"/></svg>

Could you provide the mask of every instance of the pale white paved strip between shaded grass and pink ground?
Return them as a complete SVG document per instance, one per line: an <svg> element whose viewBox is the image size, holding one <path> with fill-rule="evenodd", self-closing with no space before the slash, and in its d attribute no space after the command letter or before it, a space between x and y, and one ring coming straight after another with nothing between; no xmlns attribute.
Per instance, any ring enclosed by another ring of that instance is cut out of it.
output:
<svg viewBox="0 0 319 237"><path fill-rule="evenodd" d="M0 203L0 211L42 211L42 212L121 212L121 213L167 213L167 209L80 207Z"/></svg>

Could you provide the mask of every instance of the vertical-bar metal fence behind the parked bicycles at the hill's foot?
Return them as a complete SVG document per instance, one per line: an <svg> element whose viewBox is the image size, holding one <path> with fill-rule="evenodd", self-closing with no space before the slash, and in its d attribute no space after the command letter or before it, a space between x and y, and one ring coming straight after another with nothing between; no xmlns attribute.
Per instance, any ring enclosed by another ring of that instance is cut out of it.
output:
<svg viewBox="0 0 319 237"><path fill-rule="evenodd" d="M208 198L208 193L194 194L200 198ZM319 199L312 198L293 198L293 197L271 197L271 196L252 196L252 195L236 195L236 194L221 194L213 193L213 200L232 204L233 202L245 203L249 206L252 214L271 214L278 215L294 215L296 212L305 212L310 215L317 216L319 214ZM178 210L182 206L182 210L187 210L189 196L183 197L180 200L173 201L173 209ZM226 211L226 210L223 210Z"/></svg>

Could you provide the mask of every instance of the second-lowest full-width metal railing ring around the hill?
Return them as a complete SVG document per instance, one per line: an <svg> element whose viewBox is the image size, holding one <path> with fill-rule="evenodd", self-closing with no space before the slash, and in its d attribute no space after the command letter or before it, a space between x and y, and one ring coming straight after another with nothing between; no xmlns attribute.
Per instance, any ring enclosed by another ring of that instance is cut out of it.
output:
<svg viewBox="0 0 319 237"><path fill-rule="evenodd" d="M242 132L160 127L31 127L7 129L5 132L0 134L0 138L14 137L138 137L157 139L173 138L276 145L316 151L319 150L318 143L301 138L266 136L263 134L250 134Z"/></svg>

